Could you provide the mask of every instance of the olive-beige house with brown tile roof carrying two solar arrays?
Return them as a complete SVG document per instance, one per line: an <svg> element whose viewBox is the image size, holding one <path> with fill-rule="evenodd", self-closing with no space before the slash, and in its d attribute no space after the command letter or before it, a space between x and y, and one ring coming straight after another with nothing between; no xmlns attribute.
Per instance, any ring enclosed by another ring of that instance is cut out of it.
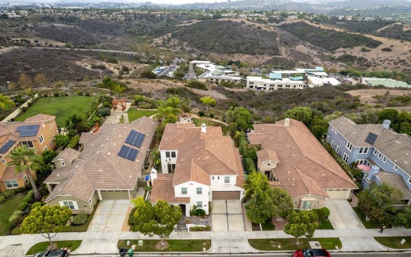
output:
<svg viewBox="0 0 411 257"><path fill-rule="evenodd" d="M134 198L156 127L147 117L130 124L104 124L80 154L69 149L60 153L60 158L72 159L71 164L44 181L50 191L46 202L91 213L97 199Z"/></svg>

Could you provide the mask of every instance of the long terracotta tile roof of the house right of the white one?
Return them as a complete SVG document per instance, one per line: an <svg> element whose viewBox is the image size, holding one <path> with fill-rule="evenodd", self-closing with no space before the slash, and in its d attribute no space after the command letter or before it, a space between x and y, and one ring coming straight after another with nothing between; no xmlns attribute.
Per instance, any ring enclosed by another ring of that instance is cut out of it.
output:
<svg viewBox="0 0 411 257"><path fill-rule="evenodd" d="M287 127L284 122L254 124L254 131L248 134L250 143L260 144L278 157L279 163L272 169L277 181L270 185L281 186L293 198L307 194L328 198L325 189L357 188L302 122L290 119ZM269 136L258 140L261 134Z"/></svg>

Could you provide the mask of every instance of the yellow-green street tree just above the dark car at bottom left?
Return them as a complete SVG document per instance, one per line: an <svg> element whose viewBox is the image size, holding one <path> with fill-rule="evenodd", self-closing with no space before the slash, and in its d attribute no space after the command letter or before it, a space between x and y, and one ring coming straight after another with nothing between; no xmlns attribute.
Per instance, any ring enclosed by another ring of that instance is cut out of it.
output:
<svg viewBox="0 0 411 257"><path fill-rule="evenodd" d="M26 234L39 234L47 238L52 246L51 238L57 235L66 225L71 210L60 206L41 206L31 210L24 219L20 230ZM52 235L54 233L54 235Z"/></svg>

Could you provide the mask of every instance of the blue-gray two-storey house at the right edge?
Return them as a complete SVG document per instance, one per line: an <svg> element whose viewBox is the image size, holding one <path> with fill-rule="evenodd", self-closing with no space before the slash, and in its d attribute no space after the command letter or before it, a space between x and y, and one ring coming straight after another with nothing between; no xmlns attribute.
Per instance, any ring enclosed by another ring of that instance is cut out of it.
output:
<svg viewBox="0 0 411 257"><path fill-rule="evenodd" d="M411 204L411 138L383 124L356 124L339 117L329 122L327 142L347 163L370 167L363 170L362 185L388 183L401 190L404 204Z"/></svg>

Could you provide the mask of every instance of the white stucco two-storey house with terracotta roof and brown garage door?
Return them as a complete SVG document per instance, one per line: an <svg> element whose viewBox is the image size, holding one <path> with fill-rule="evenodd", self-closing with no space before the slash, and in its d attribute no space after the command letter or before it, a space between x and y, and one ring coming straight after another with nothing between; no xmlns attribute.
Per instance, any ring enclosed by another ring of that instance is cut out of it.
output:
<svg viewBox="0 0 411 257"><path fill-rule="evenodd" d="M153 203L165 199L189 216L194 205L208 213L213 199L243 196L240 155L221 127L166 124L158 149L162 173L151 174Z"/></svg>

